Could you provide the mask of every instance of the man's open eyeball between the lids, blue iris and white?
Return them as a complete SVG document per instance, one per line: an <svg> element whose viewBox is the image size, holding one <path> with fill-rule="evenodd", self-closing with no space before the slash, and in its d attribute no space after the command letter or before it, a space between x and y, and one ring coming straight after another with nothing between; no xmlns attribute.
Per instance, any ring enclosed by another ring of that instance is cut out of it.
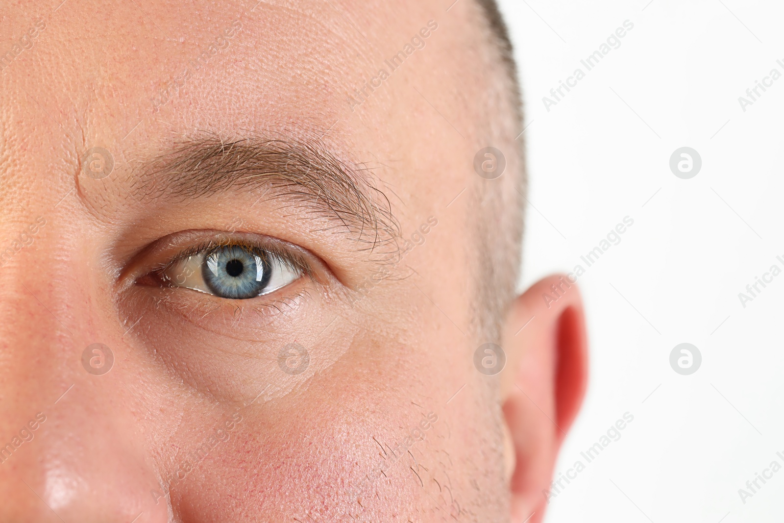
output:
<svg viewBox="0 0 784 523"><path fill-rule="evenodd" d="M279 245L264 247L247 240L224 239L185 249L150 276L167 287L249 300L281 289L307 271L303 260Z"/></svg>

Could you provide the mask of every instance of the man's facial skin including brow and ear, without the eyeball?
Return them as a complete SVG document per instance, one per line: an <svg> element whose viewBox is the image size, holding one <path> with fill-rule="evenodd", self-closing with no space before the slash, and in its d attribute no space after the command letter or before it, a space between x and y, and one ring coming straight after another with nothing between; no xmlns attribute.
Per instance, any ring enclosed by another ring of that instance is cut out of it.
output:
<svg viewBox="0 0 784 523"><path fill-rule="evenodd" d="M481 11L450 3L5 10L0 521L541 521L583 309L543 302L555 276L496 285L520 130ZM206 292L183 260L227 245L294 276Z"/></svg>

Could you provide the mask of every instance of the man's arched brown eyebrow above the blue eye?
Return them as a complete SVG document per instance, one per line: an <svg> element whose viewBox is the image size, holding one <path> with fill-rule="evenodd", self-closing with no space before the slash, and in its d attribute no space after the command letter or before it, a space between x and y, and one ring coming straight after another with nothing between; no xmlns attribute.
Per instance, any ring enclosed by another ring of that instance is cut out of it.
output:
<svg viewBox="0 0 784 523"><path fill-rule="evenodd" d="M399 236L390 201L369 169L340 161L317 139L178 140L134 172L132 193L145 198L182 201L263 189L262 198L288 199L334 222L328 228L352 234L365 249Z"/></svg>

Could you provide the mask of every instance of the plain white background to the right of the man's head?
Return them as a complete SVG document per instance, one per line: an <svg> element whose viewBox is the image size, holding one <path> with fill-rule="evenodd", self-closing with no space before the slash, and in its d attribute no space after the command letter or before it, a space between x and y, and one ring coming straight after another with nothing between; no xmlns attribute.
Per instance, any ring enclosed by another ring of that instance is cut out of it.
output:
<svg viewBox="0 0 784 523"><path fill-rule="evenodd" d="M782 521L784 470L745 504L738 493L771 461L784 466L784 274L745 308L738 296L784 269L784 78L745 112L738 101L771 68L784 74L782 5L501 4L528 125L524 286L572 271L634 220L579 278L590 385L556 474L586 463L580 452L624 412L634 420L551 499L546 521ZM586 71L579 60L624 20L622 45ZM586 78L546 111L542 97L577 67ZM702 157L690 180L669 166L684 146ZM684 342L702 353L691 376L670 367Z"/></svg>

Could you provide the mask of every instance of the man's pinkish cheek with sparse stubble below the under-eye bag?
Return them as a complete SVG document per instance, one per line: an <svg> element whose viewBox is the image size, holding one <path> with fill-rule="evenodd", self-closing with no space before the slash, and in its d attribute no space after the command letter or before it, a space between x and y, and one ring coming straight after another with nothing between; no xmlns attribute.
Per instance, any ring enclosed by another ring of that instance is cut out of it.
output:
<svg viewBox="0 0 784 523"><path fill-rule="evenodd" d="M467 479L458 479L466 474L456 464L468 463L469 455L481 461L484 454L463 438L488 438L459 428L471 423L450 419L437 405L442 402L434 401L439 419L425 440L415 441L410 453L394 455L429 412L412 401L429 405L441 383L423 387L410 363L399 363L405 354L387 360L372 343L364 349L375 355L362 358L350 351L307 390L242 411L230 440L216 445L172 489L172 506L182 521L245 521L246 514L263 514L263 521L310 521L308 514L315 521L397 521L399 514L438 507L458 517L476 491ZM453 499L438 487L450 481Z"/></svg>

